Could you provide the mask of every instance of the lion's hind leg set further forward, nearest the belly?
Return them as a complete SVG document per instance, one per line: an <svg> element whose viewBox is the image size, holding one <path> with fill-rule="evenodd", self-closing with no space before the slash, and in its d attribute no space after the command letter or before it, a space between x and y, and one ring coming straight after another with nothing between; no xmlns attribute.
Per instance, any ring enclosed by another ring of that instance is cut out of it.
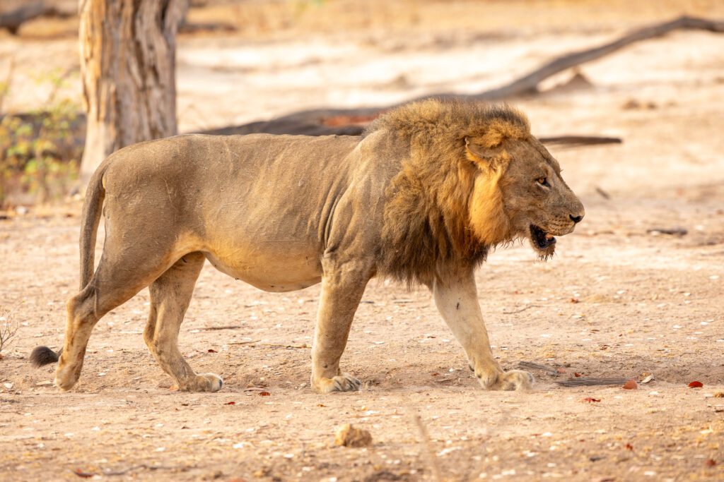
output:
<svg viewBox="0 0 724 482"><path fill-rule="evenodd" d="M216 392L223 384L215 374L196 374L178 348L181 323L204 259L200 252L186 254L148 287L151 313L143 339L179 390L188 392Z"/></svg>

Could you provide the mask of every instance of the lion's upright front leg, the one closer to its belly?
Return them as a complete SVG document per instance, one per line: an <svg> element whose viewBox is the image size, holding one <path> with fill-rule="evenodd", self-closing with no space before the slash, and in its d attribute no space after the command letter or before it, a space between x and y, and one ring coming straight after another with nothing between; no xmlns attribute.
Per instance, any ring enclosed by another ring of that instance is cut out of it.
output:
<svg viewBox="0 0 724 482"><path fill-rule="evenodd" d="M350 326L370 277L369 269L359 264L323 261L311 375L312 388L319 393L353 392L361 386L358 379L340 371Z"/></svg>

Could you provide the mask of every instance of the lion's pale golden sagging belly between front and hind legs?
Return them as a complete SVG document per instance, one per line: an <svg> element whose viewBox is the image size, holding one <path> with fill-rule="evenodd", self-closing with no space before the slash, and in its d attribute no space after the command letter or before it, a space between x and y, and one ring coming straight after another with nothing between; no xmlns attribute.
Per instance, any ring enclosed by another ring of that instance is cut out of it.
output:
<svg viewBox="0 0 724 482"><path fill-rule="evenodd" d="M321 280L319 258L302 246L206 252L219 271L264 291L295 291Z"/></svg>

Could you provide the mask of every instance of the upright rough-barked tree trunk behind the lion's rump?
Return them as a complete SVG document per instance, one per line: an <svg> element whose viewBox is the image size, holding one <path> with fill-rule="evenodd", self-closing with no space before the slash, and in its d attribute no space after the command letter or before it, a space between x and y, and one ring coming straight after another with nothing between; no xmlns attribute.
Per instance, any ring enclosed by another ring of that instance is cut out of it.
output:
<svg viewBox="0 0 724 482"><path fill-rule="evenodd" d="M187 8L188 0L80 0L83 184L111 152L177 134L176 33Z"/></svg>

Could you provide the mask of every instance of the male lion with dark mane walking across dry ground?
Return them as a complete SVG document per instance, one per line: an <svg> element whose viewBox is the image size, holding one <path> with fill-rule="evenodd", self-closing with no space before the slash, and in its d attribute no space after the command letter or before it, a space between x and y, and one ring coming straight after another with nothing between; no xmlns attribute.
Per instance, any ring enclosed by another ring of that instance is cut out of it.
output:
<svg viewBox="0 0 724 482"><path fill-rule="evenodd" d="M103 254L93 270L98 223ZM426 285L489 390L526 390L490 348L473 272L518 238L548 259L584 207L560 166L508 106L424 100L384 113L359 137L181 135L114 152L93 174L83 205L80 292L67 301L64 345L33 350L59 361L70 390L93 326L148 286L149 350L180 390L222 388L197 374L178 335L204 262L264 291L321 282L311 386L359 390L340 370L350 324L369 280Z"/></svg>

